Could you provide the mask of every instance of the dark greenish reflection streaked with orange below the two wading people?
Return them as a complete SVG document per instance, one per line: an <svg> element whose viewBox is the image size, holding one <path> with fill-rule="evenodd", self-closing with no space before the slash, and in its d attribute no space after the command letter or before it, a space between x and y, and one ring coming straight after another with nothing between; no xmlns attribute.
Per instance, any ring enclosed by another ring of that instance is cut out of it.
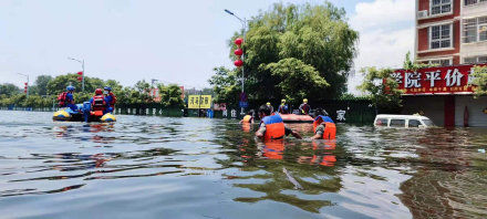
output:
<svg viewBox="0 0 487 219"><path fill-rule="evenodd" d="M312 126L293 124L292 128L302 132L312 129ZM235 135L232 132L232 129L227 129L222 135L232 136ZM238 153L228 153L229 159L219 161L224 168L230 168L242 161L241 175L226 175L226 178L235 181L232 182L235 187L250 189L262 195L237 197L235 201L272 200L310 212L319 212L323 207L333 205L332 200L323 199L320 195L336 192L342 188L338 169L334 166L335 142L260 140L250 135L245 138L240 137ZM294 185L283 173L283 168L292 174L303 190L297 192Z"/></svg>

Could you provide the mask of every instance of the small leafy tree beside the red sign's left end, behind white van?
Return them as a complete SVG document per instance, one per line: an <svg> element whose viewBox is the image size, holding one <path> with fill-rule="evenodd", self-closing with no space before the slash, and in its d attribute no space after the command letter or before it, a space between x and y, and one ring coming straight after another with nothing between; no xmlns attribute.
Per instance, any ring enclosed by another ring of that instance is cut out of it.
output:
<svg viewBox="0 0 487 219"><path fill-rule="evenodd" d="M391 112L402 106L401 94L403 91L398 88L398 83L391 77L393 70L367 67L361 72L365 74L365 77L358 88L367 93L377 108Z"/></svg>

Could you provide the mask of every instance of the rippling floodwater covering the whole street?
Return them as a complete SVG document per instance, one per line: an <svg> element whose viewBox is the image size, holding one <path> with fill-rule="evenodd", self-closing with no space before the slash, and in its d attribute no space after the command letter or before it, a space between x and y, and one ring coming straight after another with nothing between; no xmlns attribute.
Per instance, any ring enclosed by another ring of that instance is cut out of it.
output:
<svg viewBox="0 0 487 219"><path fill-rule="evenodd" d="M236 121L51 116L0 111L0 218L487 217L486 129L262 143Z"/></svg>

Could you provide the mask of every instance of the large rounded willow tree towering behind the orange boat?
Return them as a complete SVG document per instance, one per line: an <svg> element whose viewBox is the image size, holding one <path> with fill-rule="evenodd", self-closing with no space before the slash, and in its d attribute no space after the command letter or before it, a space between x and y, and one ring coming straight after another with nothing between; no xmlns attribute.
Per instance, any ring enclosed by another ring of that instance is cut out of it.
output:
<svg viewBox="0 0 487 219"><path fill-rule="evenodd" d="M229 42L231 60L236 59L232 54L237 49L234 40L238 36L241 36L241 33L236 33ZM340 96L346 92L348 72L356 53L358 39L359 33L346 23L345 11L329 2L324 4L273 4L270 10L260 12L251 19L246 42L242 45L246 72L245 88L249 101L265 103L277 102L282 97L300 98L299 96L307 96L314 102L320 102ZM299 94L292 93L297 91L296 87L284 88L284 85L290 84L282 82L287 75L276 72L282 72L282 64L290 62L291 59L292 62L300 61L302 63L300 70L303 70L304 66L313 67L312 71L309 67L305 67L307 71L304 71L307 74L313 72L312 77L318 80L310 86L321 84L322 87L320 90L299 90ZM280 66L280 70L273 71L272 67L277 66ZM240 75L240 71L236 70L232 74ZM219 71L215 72L219 73ZM217 74L210 81L232 80L229 72L228 76L221 77ZM325 86L323 82L328 82L329 86ZM279 84L280 88L274 88ZM220 84L214 83L213 85ZM235 97L222 97L234 94L232 92L236 91L234 86L238 86L238 84L232 82L228 87L215 88L217 96L219 96L218 100L235 103L238 100L238 94Z"/></svg>

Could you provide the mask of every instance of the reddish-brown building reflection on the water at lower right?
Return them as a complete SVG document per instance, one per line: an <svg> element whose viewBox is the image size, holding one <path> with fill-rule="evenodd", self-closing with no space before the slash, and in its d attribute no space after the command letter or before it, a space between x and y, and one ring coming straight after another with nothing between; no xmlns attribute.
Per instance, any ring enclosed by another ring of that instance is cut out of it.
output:
<svg viewBox="0 0 487 219"><path fill-rule="evenodd" d="M402 184L404 194L400 195L414 217L487 215L487 166L485 159L477 163L474 148L468 147L477 137L465 131L431 129L417 138L422 146L416 149L421 165Z"/></svg>

